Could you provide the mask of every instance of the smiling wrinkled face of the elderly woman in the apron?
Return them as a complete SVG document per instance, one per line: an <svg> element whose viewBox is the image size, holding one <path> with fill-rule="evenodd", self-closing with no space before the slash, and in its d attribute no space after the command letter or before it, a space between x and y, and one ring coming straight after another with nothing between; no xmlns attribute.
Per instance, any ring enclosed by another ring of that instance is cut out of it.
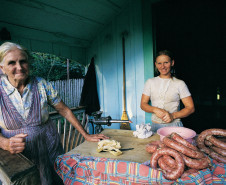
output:
<svg viewBox="0 0 226 185"><path fill-rule="evenodd" d="M4 57L3 73L8 76L9 81L24 81L29 75L29 64L27 56L19 49L8 52Z"/></svg>

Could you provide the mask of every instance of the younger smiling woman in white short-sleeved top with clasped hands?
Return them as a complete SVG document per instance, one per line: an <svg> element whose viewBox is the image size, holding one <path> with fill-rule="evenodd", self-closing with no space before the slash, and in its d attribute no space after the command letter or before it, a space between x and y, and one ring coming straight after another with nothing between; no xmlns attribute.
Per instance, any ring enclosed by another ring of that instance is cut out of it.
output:
<svg viewBox="0 0 226 185"><path fill-rule="evenodd" d="M148 79L144 86L140 106L145 112L152 113L151 127L154 132L162 127L183 126L181 118L195 111L187 85L173 76L174 64L174 57L170 51L158 52L155 67L159 76ZM181 110L180 100L184 105Z"/></svg>

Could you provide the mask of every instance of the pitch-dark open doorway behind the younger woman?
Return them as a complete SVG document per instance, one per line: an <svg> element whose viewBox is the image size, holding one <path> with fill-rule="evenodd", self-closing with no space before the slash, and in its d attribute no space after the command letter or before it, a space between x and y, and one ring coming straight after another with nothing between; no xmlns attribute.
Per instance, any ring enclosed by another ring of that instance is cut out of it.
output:
<svg viewBox="0 0 226 185"><path fill-rule="evenodd" d="M226 1L169 0L153 9L156 51L175 54L176 76L187 84L196 111L182 119L197 133L226 128Z"/></svg>

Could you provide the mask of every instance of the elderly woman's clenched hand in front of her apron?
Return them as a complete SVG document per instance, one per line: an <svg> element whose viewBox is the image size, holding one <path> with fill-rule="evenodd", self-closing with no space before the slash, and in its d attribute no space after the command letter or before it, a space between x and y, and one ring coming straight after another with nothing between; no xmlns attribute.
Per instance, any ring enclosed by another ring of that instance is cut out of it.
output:
<svg viewBox="0 0 226 185"><path fill-rule="evenodd" d="M11 154L23 152L25 149L25 137L27 137L27 134L17 134L8 138L3 149L8 150Z"/></svg>

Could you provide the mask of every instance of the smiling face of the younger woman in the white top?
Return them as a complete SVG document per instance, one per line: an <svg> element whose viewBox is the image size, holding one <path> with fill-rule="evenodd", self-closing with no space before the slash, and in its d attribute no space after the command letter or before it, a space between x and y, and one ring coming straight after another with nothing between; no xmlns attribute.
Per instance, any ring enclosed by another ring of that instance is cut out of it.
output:
<svg viewBox="0 0 226 185"><path fill-rule="evenodd" d="M170 76L171 66L174 65L174 61L171 61L167 55L160 55L156 58L155 66L158 69L160 76Z"/></svg>

